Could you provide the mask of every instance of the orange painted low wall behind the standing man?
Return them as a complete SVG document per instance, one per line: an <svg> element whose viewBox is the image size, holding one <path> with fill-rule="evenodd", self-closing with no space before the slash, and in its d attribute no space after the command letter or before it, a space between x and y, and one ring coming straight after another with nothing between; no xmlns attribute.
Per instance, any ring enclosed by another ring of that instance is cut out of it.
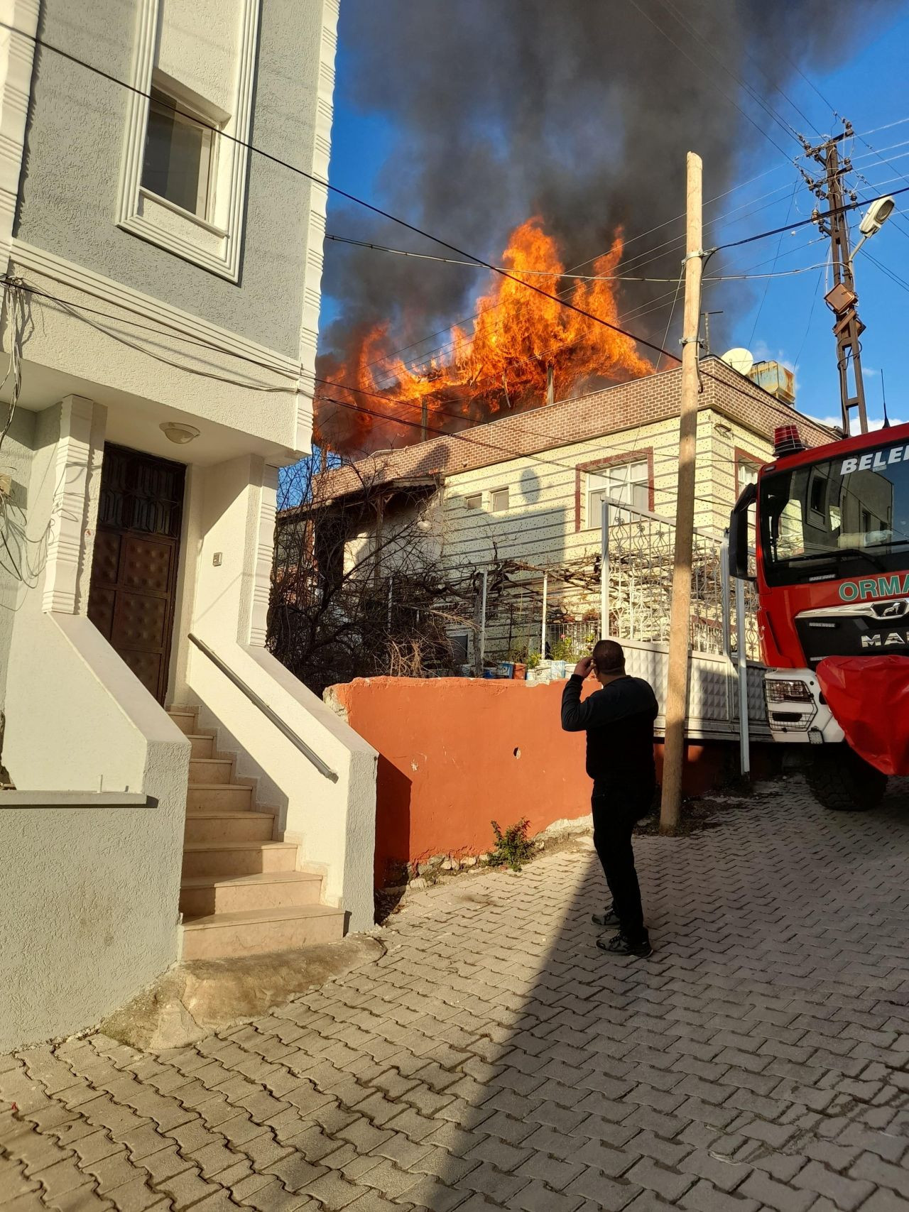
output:
<svg viewBox="0 0 909 1212"><path fill-rule="evenodd" d="M504 828L527 817L532 835L589 812L584 734L561 730L564 686L370 678L332 687L350 726L379 753L378 886L404 863L490 850L493 819ZM585 696L595 688L589 681ZM686 791L714 785L732 748L690 744Z"/></svg>

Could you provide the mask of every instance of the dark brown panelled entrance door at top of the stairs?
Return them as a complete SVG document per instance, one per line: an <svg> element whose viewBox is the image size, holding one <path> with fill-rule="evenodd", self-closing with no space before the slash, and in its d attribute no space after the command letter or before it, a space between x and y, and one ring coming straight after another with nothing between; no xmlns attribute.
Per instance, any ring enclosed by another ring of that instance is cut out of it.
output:
<svg viewBox="0 0 909 1212"><path fill-rule="evenodd" d="M88 618L164 703L173 633L185 468L107 445Z"/></svg>

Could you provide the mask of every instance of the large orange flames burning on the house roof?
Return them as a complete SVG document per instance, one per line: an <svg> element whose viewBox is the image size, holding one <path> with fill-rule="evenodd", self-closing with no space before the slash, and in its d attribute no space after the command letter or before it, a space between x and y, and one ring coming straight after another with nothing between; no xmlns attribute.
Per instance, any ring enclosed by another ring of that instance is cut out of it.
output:
<svg viewBox="0 0 909 1212"><path fill-rule="evenodd" d="M622 248L617 234L608 252L593 263L591 276L596 280L576 280L567 291L561 288L562 297L616 324L616 291L607 279L616 273ZM530 218L511 233L503 262L521 281L497 279L493 290L476 303L473 337L453 327L444 359L408 366L400 356L384 353L389 344L385 325L367 332L348 362L328 376L358 390L324 385L318 393L318 438L336 447L370 448L378 444L378 428L388 445L401 446L419 439L424 402L431 435L440 429L463 428L452 424L452 415L490 419L503 408L543 404L549 375L558 400L584 381L623 382L653 371L630 337L521 285L532 284L548 295L560 291L565 265L542 219ZM400 417L408 424L393 423L389 431L385 422L361 412L354 424L336 427L328 421L332 415L341 419L337 410L328 407L332 400ZM345 434L341 442L332 433L336 428Z"/></svg>

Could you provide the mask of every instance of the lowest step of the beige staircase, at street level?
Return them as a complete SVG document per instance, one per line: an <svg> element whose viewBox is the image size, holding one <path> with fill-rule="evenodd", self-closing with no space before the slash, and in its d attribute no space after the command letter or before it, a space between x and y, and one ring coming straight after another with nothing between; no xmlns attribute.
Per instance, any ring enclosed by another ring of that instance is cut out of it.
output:
<svg viewBox="0 0 909 1212"><path fill-rule="evenodd" d="M327 905L247 909L183 922L183 960L282 951L344 936L344 910Z"/></svg>

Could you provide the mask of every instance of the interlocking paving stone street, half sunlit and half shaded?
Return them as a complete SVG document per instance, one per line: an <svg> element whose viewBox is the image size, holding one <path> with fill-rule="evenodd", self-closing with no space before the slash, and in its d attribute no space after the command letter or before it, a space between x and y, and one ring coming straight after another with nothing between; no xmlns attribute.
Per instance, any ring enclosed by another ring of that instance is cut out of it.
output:
<svg viewBox="0 0 909 1212"><path fill-rule="evenodd" d="M638 842L647 961L594 947L585 839L196 1047L0 1057L0 1206L909 1212L907 787L719 821Z"/></svg>

